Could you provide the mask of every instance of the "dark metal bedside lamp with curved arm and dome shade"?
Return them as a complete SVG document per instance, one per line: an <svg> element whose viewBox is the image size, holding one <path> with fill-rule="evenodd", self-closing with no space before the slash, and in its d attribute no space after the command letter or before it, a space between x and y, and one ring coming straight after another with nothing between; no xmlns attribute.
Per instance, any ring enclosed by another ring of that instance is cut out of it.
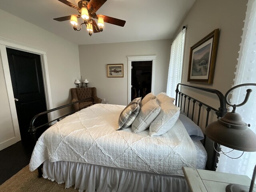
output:
<svg viewBox="0 0 256 192"><path fill-rule="evenodd" d="M256 86L255 83L246 83L234 86L228 90L225 94L226 104L233 107L232 112L227 112L224 117L219 118L218 121L210 123L205 130L206 136L210 138L213 142L220 145L232 148L234 150L240 150L244 152L256 152L256 134L250 130L250 124L246 124L242 121L240 114L236 113L236 107L244 105L252 92L251 89L246 90L246 96L242 103L240 104L230 104L228 102L228 95L234 89L243 86ZM256 176L256 166L254 167L254 172L252 174L252 181L248 191L248 187L229 184L226 187L226 192L253 192L254 181Z"/></svg>

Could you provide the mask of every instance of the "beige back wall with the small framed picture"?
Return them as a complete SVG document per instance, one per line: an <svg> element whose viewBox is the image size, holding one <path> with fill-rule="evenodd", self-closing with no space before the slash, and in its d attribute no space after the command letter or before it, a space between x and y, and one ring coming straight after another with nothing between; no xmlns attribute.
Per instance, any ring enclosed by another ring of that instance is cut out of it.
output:
<svg viewBox="0 0 256 192"><path fill-rule="evenodd" d="M156 55L154 93L166 92L171 40L79 46L80 71L88 86L97 88L97 95L110 104L127 105L127 56ZM124 64L124 78L107 78L106 64Z"/></svg>

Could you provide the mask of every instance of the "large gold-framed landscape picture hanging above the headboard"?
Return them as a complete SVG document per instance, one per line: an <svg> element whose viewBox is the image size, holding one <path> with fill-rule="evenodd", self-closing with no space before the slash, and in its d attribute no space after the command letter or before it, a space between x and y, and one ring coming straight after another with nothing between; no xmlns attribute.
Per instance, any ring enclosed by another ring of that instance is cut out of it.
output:
<svg viewBox="0 0 256 192"><path fill-rule="evenodd" d="M190 48L188 82L212 84L219 29L215 29Z"/></svg>

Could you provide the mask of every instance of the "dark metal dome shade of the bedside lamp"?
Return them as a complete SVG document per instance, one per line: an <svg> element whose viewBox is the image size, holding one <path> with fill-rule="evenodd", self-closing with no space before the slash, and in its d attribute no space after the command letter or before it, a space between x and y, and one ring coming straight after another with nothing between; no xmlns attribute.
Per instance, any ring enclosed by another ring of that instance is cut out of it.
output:
<svg viewBox="0 0 256 192"><path fill-rule="evenodd" d="M228 112L218 121L210 123L205 134L214 142L228 148L246 152L256 151L256 134L236 112Z"/></svg>

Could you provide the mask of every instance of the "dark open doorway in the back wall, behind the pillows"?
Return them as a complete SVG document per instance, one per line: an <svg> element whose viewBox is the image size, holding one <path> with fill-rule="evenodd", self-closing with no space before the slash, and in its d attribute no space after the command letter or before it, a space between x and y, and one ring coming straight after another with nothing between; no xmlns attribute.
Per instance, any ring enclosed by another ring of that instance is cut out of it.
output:
<svg viewBox="0 0 256 192"><path fill-rule="evenodd" d="M132 61L132 98L146 96L151 92L152 61Z"/></svg>

